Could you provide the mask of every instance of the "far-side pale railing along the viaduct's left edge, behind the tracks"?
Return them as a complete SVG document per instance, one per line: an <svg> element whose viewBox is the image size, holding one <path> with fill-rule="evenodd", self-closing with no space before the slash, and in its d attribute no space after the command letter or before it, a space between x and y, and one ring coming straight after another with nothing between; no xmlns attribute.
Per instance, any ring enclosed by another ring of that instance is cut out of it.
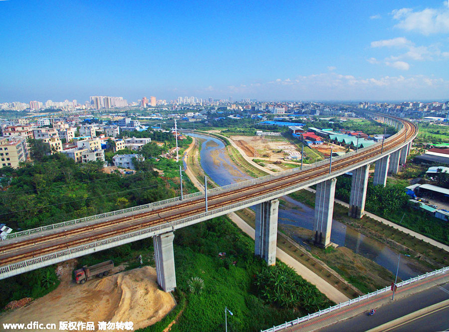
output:
<svg viewBox="0 0 449 332"><path fill-rule="evenodd" d="M385 141L388 141L390 139L393 139L393 136L387 138ZM342 156L334 157L334 158L332 158L332 160L333 160L333 162L335 162L335 161L343 159L343 158L350 158L352 156L360 154L361 152L364 152L364 151L376 148L377 146L380 146L381 144L382 143L376 143L376 144L373 144L373 145L371 145L369 147L361 148L361 149L359 149L358 152L352 151L352 152L346 153L346 154L344 154ZM314 164L305 164L305 165L303 165L303 170L318 168L318 167L321 167L321 166L326 165L326 164L329 164L329 159L325 159L325 160L319 161L319 162L314 163ZM248 185L251 185L251 184L261 183L261 182L264 182L264 181L272 179L272 178L282 177L282 176L288 175L288 174L293 174L293 173L299 172L300 170L301 170L300 167L296 167L296 168L293 168L293 169L276 172L275 174L269 174L269 175L265 175L265 176L262 176L262 177L259 177L259 178L245 180L245 181L241 181L241 182L225 185L225 186L222 186L222 187L209 189L208 193L214 193L214 192L218 192L218 191L225 191L225 190L229 190L229 189L245 187L245 186L248 186ZM194 198L194 197L198 197L198 196L204 196L204 194L202 192L196 192L196 193L193 193L193 194L184 195L183 196L183 200ZM128 212L140 211L140 210L145 210L145 209L151 209L151 208L154 208L154 207L157 207L157 206L160 206L160 205L170 204L170 203L174 203L174 202L177 202L177 201L181 201L181 197L178 196L178 197L166 199L166 200L159 201L159 202L154 202L154 203L134 206L134 207L131 207L131 208L126 208L126 209L121 209L121 210L117 210L117 211L101 213L101 214L97 214L97 215L94 215L94 216L88 216L88 217L84 217L84 218L64 221L64 222L57 223L57 224L52 224L52 225L42 226L42 227L38 227L38 228L33 228L33 229L25 230L25 231L10 233L6 237L6 240L15 239L15 238L19 238L19 237L23 237L23 236L27 236L27 235L32 235L32 234L36 234L36 233L41 233L41 232L45 232L45 231L51 231L51 230L55 230L55 229L58 229L58 228L63 228L63 227L71 226L71 225L82 224L82 223L89 222L89 221L92 221L92 220L98 220L98 219L103 219L103 218L107 218L107 217L117 216L117 215L125 214L125 213L128 213Z"/></svg>

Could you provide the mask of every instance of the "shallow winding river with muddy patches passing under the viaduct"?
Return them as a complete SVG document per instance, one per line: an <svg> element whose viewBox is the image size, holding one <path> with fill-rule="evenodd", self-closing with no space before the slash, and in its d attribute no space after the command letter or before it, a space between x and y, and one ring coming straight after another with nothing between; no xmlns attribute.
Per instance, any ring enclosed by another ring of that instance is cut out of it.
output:
<svg viewBox="0 0 449 332"><path fill-rule="evenodd" d="M242 173L232 160L227 157L225 145L222 141L215 137L205 135L192 133L189 133L189 135L202 140L200 153L201 166L215 183L224 186L251 178L249 175ZM282 199L289 202L290 204L288 205L290 206L297 206L297 209L279 205L278 222L280 224L293 225L312 230L314 210L288 196L284 196ZM295 240L301 242L299 238ZM373 260L393 273L393 275L396 275L398 254L379 241L371 239L356 230L347 228L346 225L333 220L331 242L339 246L347 247L355 253ZM412 269L414 264L408 263L408 258L402 256L398 274L401 279L406 280L422 274L421 271Z"/></svg>

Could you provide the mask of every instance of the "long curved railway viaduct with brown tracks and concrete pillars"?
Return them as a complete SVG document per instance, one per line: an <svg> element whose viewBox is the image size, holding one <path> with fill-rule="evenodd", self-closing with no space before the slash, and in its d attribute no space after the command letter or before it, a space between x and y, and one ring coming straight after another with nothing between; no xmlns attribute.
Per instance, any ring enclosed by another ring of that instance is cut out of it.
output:
<svg viewBox="0 0 449 332"><path fill-rule="evenodd" d="M410 153L417 128L401 118L363 112L399 129L382 143L341 157L323 160L237 184L81 218L38 229L12 233L0 242L0 279L80 257L125 243L153 237L158 283L165 291L176 287L174 231L256 205L255 254L275 264L277 198L317 185L315 243L330 244L336 177L353 172L349 215L361 218L365 208L368 170L375 163L374 183L385 186L387 174L398 172Z"/></svg>

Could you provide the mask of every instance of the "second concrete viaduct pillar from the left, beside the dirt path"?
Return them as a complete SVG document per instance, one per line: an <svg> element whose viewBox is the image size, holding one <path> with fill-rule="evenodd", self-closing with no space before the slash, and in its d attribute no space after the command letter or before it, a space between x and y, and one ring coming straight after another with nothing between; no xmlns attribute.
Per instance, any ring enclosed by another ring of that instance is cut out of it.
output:
<svg viewBox="0 0 449 332"><path fill-rule="evenodd" d="M274 199L256 205L255 250L268 265L276 264L277 213L279 200Z"/></svg>

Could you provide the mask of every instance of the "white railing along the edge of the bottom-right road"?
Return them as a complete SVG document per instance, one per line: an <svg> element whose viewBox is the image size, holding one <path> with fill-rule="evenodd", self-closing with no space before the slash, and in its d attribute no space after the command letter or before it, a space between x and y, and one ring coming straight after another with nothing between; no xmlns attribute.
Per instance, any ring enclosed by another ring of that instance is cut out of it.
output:
<svg viewBox="0 0 449 332"><path fill-rule="evenodd" d="M405 285L409 285L409 284L415 283L415 282L417 282L419 280L423 280L423 279L426 279L426 278L429 278L429 277L433 277L433 276L438 275L440 273L446 273L448 271L449 271L449 267L445 267L443 269L436 270L436 271L433 271L433 272L427 272L425 275L421 275L421 276L418 276L418 277L415 277L415 278L410 278L409 280L400 282L396 286L399 288L399 287L402 287L402 286L405 286ZM372 293L365 294L365 295L359 296L358 298L351 299L349 301L346 301L346 302L343 302L343 303L339 303L338 305L335 305L335 306L332 306L332 307L320 310L320 311L318 311L316 313L308 314L307 316L304 316L302 318L298 317L297 319L295 319L293 321L285 322L284 324L281 324L281 325L278 325L278 326L273 326L272 328L269 328L267 330L263 330L263 331L260 330L260 332L276 332L276 331L284 330L286 328L291 328L291 327L293 327L295 325L298 325L300 323L307 322L308 320L310 320L312 318L319 317L319 316L324 315L324 314L328 314L330 312L333 312L333 311L338 310L338 309L343 308L343 307L351 306L351 305L353 305L355 303L359 303L360 301L364 301L364 300L367 300L369 298L372 298L373 296L376 296L376 295L379 295L379 294L383 294L383 293L387 293L390 289L391 289L391 286L387 286L385 288L382 288L380 290L374 291Z"/></svg>

